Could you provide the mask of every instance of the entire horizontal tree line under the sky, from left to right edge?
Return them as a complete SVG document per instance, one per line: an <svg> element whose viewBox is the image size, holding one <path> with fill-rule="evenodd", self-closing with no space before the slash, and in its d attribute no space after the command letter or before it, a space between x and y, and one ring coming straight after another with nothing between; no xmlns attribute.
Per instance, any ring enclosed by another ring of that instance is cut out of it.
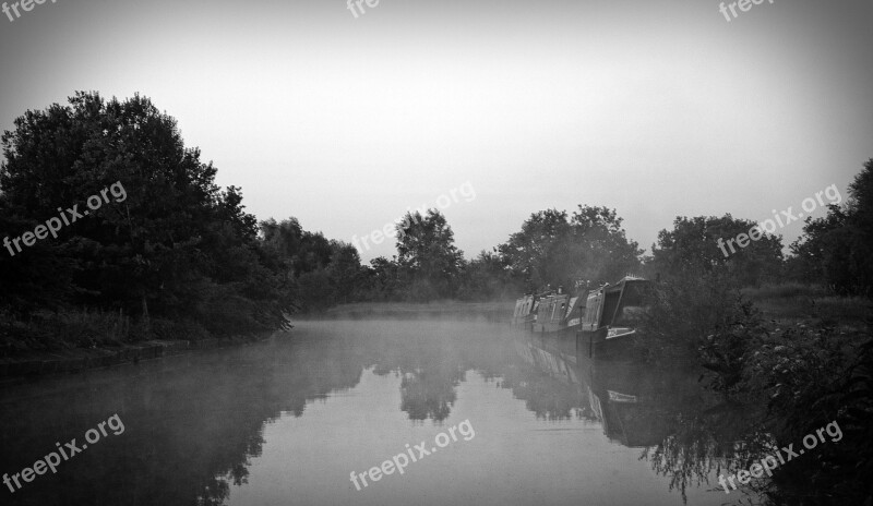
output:
<svg viewBox="0 0 873 506"><path fill-rule="evenodd" d="M344 302L511 299L626 274L718 272L739 286L796 279L868 296L873 282L873 160L850 186L852 198L806 219L788 258L781 237L768 233L722 255L718 238L754 225L731 215L678 217L644 255L614 209L579 205L531 214L506 242L469 261L439 210L407 213L396 255L363 265L355 246L292 217L259 221L247 213L241 190L219 188L217 169L184 146L176 120L140 95L121 101L79 92L69 105L28 110L2 135L2 237L33 230L59 205L117 181L128 193L57 239L0 254L3 335L70 312L133 318L125 330L133 337L246 334Z"/></svg>

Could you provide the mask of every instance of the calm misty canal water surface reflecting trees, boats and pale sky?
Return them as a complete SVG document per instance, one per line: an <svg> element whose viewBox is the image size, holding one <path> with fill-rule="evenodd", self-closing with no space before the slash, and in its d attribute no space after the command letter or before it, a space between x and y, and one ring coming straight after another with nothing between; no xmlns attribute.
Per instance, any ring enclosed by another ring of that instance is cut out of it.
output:
<svg viewBox="0 0 873 506"><path fill-rule="evenodd" d="M736 502L715 472L742 413L681 369L591 363L573 338L483 322L304 322L258 345L5 388L0 472L33 466L56 442L81 446L89 429L99 441L57 473L2 486L2 501ZM98 434L113 414L123 432ZM385 460L391 474L373 481Z"/></svg>

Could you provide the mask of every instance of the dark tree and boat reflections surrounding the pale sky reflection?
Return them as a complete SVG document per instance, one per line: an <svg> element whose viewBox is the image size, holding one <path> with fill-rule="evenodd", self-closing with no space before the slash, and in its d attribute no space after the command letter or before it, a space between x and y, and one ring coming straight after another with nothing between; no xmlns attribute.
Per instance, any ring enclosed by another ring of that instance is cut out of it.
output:
<svg viewBox="0 0 873 506"><path fill-rule="evenodd" d="M552 340L549 340L552 339ZM742 413L679 371L585 362L575 341L516 339L483 323L304 323L291 336L8 388L0 466L22 469L46 446L117 412L128 430L16 504L220 505L247 482L264 429L355 388L364 371L396 374L409 420L442 422L468 371L512 389L542 420L602 423L612 441L644 448L682 491L741 458ZM46 413L52 413L47 417ZM93 458L88 458L93 456ZM85 486L84 483L95 484Z"/></svg>

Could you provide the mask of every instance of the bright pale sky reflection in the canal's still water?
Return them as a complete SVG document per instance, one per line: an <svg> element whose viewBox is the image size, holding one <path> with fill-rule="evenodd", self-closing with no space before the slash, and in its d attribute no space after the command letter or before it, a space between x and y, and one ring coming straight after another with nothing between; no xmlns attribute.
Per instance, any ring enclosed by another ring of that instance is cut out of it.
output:
<svg viewBox="0 0 873 506"><path fill-rule="evenodd" d="M286 504L289 495L296 504L681 504L638 449L610 443L585 420L538 421L511 390L478 373L458 385L442 425L409 423L397 410L398 389L397 377L366 372L350 393L270 425L264 455L252 461L249 484L231 490L230 504ZM407 443L430 447L438 433L467 419L473 439L458 438L361 491L349 480ZM723 501L708 495L710 504ZM704 503L704 493L692 497Z"/></svg>

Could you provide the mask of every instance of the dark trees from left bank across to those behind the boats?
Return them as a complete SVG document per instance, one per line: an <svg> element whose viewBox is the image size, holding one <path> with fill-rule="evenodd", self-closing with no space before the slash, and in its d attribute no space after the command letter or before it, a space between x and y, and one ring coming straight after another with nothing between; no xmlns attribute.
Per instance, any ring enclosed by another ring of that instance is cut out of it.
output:
<svg viewBox="0 0 873 506"><path fill-rule="evenodd" d="M23 251L0 254L2 356L259 334L337 303L507 300L641 265L614 210L589 206L572 217L536 213L471 261L441 213L407 215L397 255L361 265L352 245L292 217L259 221L246 213L241 190L217 186L217 168L145 97L80 92L14 124L1 143L2 237L25 237L58 206L84 212L110 183L123 185L125 198L57 238L25 239ZM555 267L562 261L566 268Z"/></svg>

